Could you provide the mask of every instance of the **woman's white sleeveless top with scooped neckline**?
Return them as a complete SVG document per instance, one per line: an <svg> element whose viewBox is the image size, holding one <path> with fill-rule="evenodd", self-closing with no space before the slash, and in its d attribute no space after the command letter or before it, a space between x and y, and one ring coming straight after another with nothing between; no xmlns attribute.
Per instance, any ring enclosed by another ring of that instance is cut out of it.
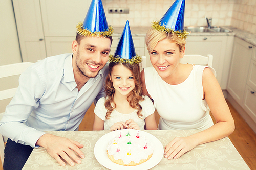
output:
<svg viewBox="0 0 256 170"><path fill-rule="evenodd" d="M195 65L188 78L177 85L166 83L154 67L144 68L146 89L161 116L159 129L207 129L213 125L208 104L202 100L205 67Z"/></svg>

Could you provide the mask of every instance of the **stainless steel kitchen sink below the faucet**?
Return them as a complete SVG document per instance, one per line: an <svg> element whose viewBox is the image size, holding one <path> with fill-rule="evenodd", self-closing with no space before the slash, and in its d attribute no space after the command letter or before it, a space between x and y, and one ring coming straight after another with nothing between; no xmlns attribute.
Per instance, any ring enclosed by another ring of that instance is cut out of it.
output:
<svg viewBox="0 0 256 170"><path fill-rule="evenodd" d="M226 27L185 27L184 29L187 30L187 32L190 33L204 33L204 32L209 32L209 33L214 33L214 32L225 32L225 33L230 33L232 30L226 28Z"/></svg>

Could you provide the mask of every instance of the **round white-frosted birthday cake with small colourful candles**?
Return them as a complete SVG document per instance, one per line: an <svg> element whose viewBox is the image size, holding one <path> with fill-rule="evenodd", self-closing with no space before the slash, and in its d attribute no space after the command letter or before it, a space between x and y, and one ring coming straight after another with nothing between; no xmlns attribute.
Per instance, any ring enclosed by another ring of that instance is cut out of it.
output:
<svg viewBox="0 0 256 170"><path fill-rule="evenodd" d="M109 141L106 148L109 159L119 165L136 166L146 162L153 154L153 144L139 134L120 134Z"/></svg>

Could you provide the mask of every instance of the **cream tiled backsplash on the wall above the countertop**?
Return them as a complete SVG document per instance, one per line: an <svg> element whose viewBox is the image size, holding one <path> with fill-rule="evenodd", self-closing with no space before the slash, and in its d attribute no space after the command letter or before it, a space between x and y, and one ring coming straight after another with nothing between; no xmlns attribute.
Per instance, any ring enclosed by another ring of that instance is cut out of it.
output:
<svg viewBox="0 0 256 170"><path fill-rule="evenodd" d="M174 0L102 0L108 23L124 26L151 26L160 20ZM108 8L128 7L129 14L109 14ZM212 18L213 26L234 26L256 34L255 0L187 0L185 26L206 26L205 16Z"/></svg>

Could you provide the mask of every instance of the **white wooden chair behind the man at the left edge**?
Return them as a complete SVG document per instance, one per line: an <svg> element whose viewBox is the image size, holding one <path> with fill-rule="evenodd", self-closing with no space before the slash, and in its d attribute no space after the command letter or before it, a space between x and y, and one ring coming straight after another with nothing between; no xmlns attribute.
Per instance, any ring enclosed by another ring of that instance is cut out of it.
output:
<svg viewBox="0 0 256 170"><path fill-rule="evenodd" d="M0 120L5 113L6 106L10 103L17 90L19 75L32 64L31 62L22 62L0 66ZM7 138L0 134L0 157L2 165L4 163L4 142L6 141Z"/></svg>

